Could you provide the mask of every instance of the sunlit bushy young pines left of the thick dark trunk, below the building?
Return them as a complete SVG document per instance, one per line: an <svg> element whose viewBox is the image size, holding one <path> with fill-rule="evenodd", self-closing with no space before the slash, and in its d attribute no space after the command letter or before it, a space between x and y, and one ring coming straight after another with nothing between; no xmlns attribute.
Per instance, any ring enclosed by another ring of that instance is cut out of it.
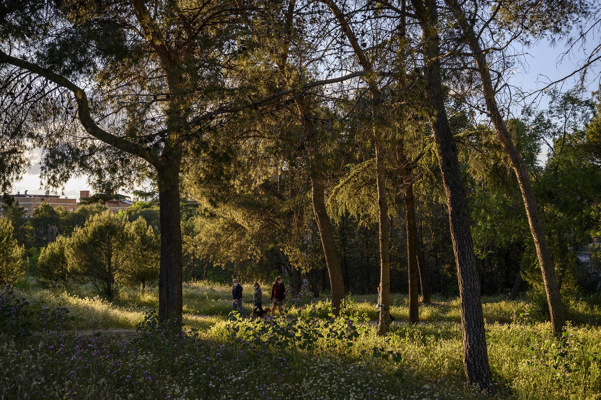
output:
<svg viewBox="0 0 601 400"><path fill-rule="evenodd" d="M99 204L69 211L43 202L26 218L18 204L4 205L2 282L16 282L28 269L53 286L90 283L110 300L124 286L145 291L159 277L159 234L144 217L134 219L136 208L143 209L115 214Z"/></svg>

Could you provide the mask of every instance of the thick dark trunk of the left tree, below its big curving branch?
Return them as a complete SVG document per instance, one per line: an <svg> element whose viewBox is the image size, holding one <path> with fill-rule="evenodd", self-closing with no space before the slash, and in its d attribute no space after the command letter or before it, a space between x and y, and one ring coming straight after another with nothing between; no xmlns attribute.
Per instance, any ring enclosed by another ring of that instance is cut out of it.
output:
<svg viewBox="0 0 601 400"><path fill-rule="evenodd" d="M159 187L159 317L182 321L182 231L179 162L157 168Z"/></svg>

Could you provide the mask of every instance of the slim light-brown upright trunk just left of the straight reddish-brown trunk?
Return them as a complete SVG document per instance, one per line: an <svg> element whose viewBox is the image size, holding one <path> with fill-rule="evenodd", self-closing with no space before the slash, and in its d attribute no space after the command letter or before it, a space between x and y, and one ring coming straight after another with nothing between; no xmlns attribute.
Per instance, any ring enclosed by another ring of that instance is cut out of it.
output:
<svg viewBox="0 0 601 400"><path fill-rule="evenodd" d="M388 200L386 199L386 176L382 160L382 152L377 138L374 139L376 147L376 182L377 204L380 240L380 318L377 334L385 335L390 330L390 247L388 244Z"/></svg>

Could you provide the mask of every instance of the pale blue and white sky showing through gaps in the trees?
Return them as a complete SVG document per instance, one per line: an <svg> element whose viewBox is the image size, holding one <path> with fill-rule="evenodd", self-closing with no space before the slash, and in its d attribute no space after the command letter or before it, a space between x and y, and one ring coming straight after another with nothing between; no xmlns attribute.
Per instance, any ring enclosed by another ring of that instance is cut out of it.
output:
<svg viewBox="0 0 601 400"><path fill-rule="evenodd" d="M584 59L585 55L588 55L594 46L599 44L600 37L599 32L591 32L587 43L584 46L579 46L572 50L569 55L561 58L561 54L566 51L564 44L552 45L549 41L543 41L538 43L536 46L526 50L527 54L524 56L523 65L516 68L514 73L509 78L511 85L522 88L522 91L534 92L538 89L542 89L547 83L553 82L557 79L561 79L572 71L579 68L579 61ZM597 64L591 68L589 79L586 82L588 89L587 95L594 90L599 89L599 75L601 73L601 61L597 61ZM578 74L570 79L567 79L560 89L567 90L572 88L578 79ZM534 97L529 97L529 101L535 100ZM547 99L543 95L537 99L538 105L545 107ZM540 160L546 158L546 153L539 155ZM27 169L23 178L13 185L13 193L23 193L28 190L29 194L41 194L45 190L40 188L40 154L35 152L30 156L31 166ZM79 198L80 190L92 190L87 183L87 177L84 176L73 176L64 186L64 196L69 198ZM93 192L93 190L92 190ZM131 195L128 192L120 191L125 195Z"/></svg>

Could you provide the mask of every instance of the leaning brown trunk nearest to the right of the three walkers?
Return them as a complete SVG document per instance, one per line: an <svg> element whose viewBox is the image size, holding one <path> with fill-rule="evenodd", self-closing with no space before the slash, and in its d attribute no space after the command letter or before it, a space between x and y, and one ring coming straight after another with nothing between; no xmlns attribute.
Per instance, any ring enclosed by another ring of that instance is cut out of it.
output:
<svg viewBox="0 0 601 400"><path fill-rule="evenodd" d="M330 288L332 290L332 310L335 315L340 312L340 304L344 298L344 281L342 277L342 268L340 267L340 259L336 251L334 243L334 235L332 234L332 225L326 211L326 203L323 196L323 183L316 174L311 174L311 186L313 188L313 212L317 222L317 229L322 239L323 255L326 258L328 274L330 278Z"/></svg>

